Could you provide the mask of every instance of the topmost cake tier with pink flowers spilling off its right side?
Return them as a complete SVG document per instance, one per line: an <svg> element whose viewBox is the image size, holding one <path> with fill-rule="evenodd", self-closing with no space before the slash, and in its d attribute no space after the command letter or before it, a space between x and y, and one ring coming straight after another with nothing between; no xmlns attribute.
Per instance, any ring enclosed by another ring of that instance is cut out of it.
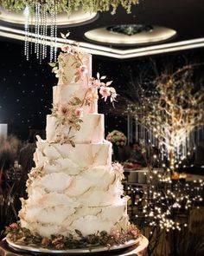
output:
<svg viewBox="0 0 204 256"><path fill-rule="evenodd" d="M110 87L112 81L105 82L106 76L100 76L99 73L97 73L97 78L92 77L92 56L90 54L81 52L79 47L69 44L62 46L61 50L58 62L49 63L53 67L52 72L59 78L59 87L80 86L85 90L85 98L82 100L81 107L90 105L98 99L98 91L105 101L108 97L111 102L115 101L117 94L116 90Z"/></svg>

